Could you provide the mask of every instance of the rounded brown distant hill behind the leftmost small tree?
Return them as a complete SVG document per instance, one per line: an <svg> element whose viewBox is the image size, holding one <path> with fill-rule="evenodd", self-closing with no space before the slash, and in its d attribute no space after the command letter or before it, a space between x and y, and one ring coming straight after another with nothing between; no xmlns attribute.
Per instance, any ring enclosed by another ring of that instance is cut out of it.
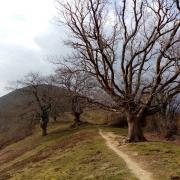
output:
<svg viewBox="0 0 180 180"><path fill-rule="evenodd" d="M17 89L0 98L0 148L31 134L34 125L39 123L36 118L38 106L33 101L34 97L27 93L29 88ZM48 86L42 85L40 89L48 89ZM54 89L58 92L59 102L68 111L70 100L65 98L65 90L58 87Z"/></svg>

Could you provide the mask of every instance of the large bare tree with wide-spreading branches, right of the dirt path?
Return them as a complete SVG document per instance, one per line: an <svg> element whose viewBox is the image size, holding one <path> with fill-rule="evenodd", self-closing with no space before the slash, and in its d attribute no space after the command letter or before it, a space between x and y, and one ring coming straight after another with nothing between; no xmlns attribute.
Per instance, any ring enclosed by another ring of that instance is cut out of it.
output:
<svg viewBox="0 0 180 180"><path fill-rule="evenodd" d="M167 0L57 0L70 30L67 66L96 77L124 109L128 141L146 140L144 118L160 110L155 98L180 92L180 12Z"/></svg>

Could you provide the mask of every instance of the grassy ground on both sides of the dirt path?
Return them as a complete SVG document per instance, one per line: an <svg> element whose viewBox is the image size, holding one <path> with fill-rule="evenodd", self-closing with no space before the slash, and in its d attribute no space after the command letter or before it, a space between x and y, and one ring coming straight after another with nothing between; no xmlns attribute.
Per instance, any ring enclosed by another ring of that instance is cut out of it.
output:
<svg viewBox="0 0 180 180"><path fill-rule="evenodd" d="M37 127L31 136L0 150L0 180L136 179L125 162L99 135L103 131L125 136L126 129L71 123L50 123L49 135ZM133 160L153 173L155 180L180 176L180 146L151 141L120 146Z"/></svg>

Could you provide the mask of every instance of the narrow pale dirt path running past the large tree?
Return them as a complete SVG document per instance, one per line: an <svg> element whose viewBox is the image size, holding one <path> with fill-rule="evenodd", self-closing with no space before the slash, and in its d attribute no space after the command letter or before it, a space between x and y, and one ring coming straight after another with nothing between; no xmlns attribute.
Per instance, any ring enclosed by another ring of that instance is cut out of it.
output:
<svg viewBox="0 0 180 180"><path fill-rule="evenodd" d="M153 180L151 173L142 169L138 163L133 161L126 153L120 150L119 139L123 139L121 136L115 135L112 132L102 132L101 129L99 130L99 134L106 140L107 146L126 162L127 167L138 179Z"/></svg>

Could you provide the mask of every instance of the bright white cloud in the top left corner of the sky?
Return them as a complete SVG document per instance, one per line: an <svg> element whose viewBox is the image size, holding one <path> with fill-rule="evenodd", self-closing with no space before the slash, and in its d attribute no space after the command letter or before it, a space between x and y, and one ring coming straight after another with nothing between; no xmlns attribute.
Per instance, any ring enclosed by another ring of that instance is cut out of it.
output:
<svg viewBox="0 0 180 180"><path fill-rule="evenodd" d="M0 0L1 42L39 50L33 39L48 30L53 0Z"/></svg>

